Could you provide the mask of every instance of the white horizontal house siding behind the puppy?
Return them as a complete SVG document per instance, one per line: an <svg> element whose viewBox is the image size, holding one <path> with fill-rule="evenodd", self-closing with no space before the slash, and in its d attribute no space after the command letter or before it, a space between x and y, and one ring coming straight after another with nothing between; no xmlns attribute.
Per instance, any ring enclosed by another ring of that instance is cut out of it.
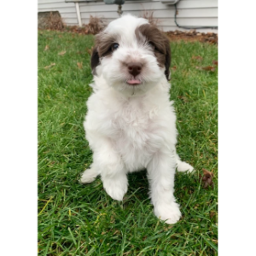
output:
<svg viewBox="0 0 256 256"><path fill-rule="evenodd" d="M105 18L108 21L119 17L117 5L106 5L102 1L79 3L82 23L88 23L90 15ZM181 0L177 3L177 23L180 26L218 26L218 0ZM58 10L68 26L78 25L74 3L65 0L38 0L37 11ZM154 17L159 19L159 26L164 31L182 30L174 22L175 9L158 0L126 1L123 5L125 13L142 16L144 11L154 11ZM218 32L206 29L199 31Z"/></svg>

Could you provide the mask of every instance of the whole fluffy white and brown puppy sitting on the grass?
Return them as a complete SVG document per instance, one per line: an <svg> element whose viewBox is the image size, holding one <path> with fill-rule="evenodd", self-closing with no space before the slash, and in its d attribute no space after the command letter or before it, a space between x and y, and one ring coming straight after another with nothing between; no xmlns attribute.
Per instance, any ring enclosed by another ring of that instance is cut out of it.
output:
<svg viewBox="0 0 256 256"><path fill-rule="evenodd" d="M176 115L170 102L171 49L148 20L124 15L96 36L94 83L84 122L93 164L81 178L101 175L104 189L122 201L127 173L148 170L155 215L168 224L181 217L174 176L193 170L176 154Z"/></svg>

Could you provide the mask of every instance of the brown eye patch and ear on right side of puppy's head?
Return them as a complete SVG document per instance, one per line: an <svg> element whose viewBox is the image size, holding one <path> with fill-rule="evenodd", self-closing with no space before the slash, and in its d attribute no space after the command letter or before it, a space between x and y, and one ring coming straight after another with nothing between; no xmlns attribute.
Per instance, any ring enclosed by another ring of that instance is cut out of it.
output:
<svg viewBox="0 0 256 256"><path fill-rule="evenodd" d="M137 40L154 46L154 55L160 67L166 67L166 79L169 80L171 66L171 48L169 39L156 26L144 24L137 27Z"/></svg>

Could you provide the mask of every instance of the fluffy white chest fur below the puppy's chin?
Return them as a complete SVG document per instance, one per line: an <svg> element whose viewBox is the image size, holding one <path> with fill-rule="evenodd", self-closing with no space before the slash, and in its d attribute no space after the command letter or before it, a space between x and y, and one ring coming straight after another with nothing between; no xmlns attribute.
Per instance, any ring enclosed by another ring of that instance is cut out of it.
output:
<svg viewBox="0 0 256 256"><path fill-rule="evenodd" d="M176 143L176 117L167 92L124 97L113 90L97 91L88 108L85 130L108 137L130 172L147 166L160 148Z"/></svg>

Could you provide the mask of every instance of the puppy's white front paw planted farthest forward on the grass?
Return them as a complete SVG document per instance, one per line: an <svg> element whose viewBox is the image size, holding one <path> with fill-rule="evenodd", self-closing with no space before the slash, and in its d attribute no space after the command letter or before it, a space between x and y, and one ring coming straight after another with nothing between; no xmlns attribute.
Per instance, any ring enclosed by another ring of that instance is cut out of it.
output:
<svg viewBox="0 0 256 256"><path fill-rule="evenodd" d="M182 217L176 202L172 202L170 205L160 204L157 207L154 207L154 214L157 218L166 221L166 224L176 224Z"/></svg>

